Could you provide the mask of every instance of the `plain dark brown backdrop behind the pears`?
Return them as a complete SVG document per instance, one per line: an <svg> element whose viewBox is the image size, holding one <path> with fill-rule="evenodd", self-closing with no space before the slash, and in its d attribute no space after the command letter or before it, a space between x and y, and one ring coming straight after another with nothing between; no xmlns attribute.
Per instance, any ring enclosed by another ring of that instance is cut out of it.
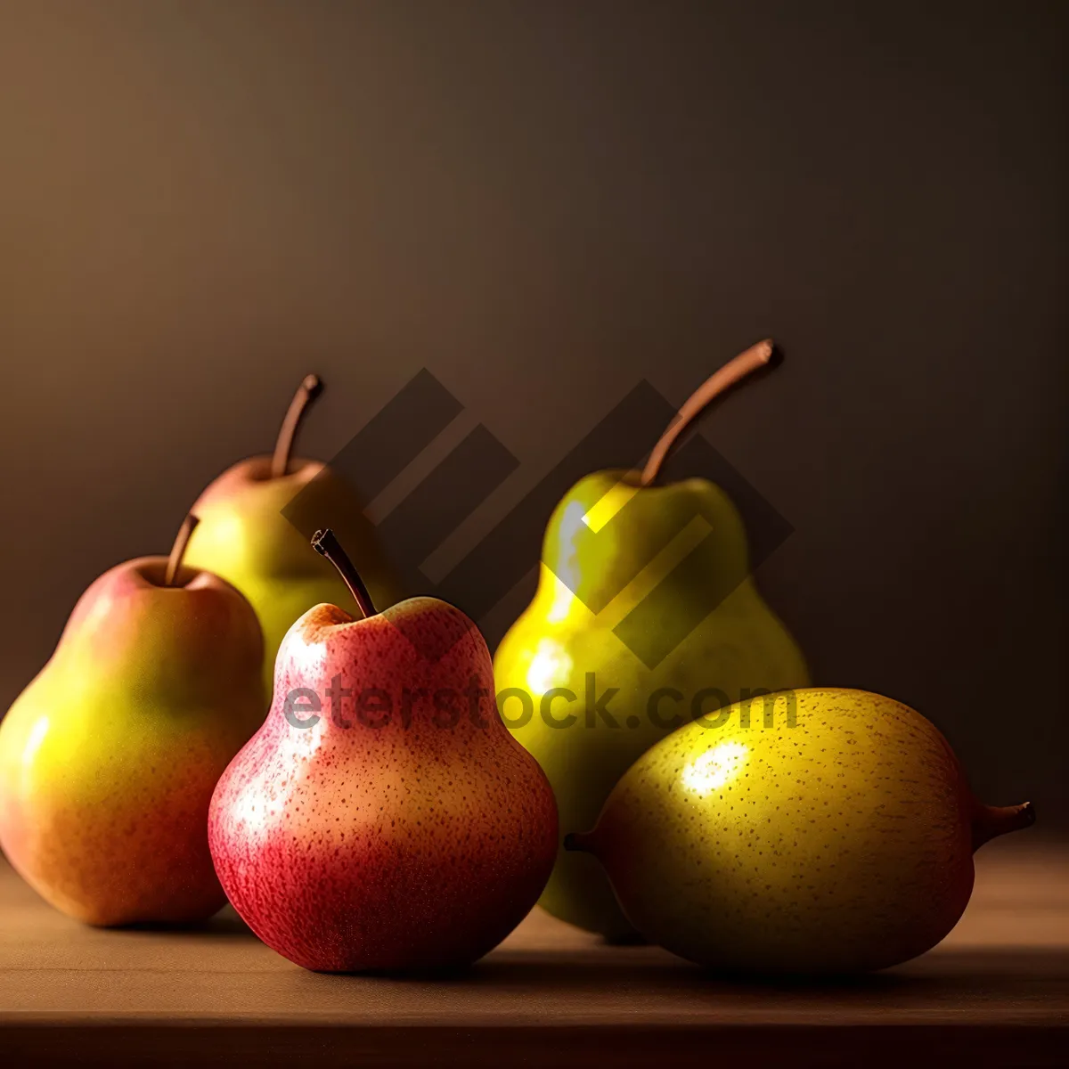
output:
<svg viewBox="0 0 1069 1069"><path fill-rule="evenodd" d="M770 601L1065 823L1067 10L0 0L0 706L307 370L309 452L427 366L521 459L463 548L774 334Z"/></svg>

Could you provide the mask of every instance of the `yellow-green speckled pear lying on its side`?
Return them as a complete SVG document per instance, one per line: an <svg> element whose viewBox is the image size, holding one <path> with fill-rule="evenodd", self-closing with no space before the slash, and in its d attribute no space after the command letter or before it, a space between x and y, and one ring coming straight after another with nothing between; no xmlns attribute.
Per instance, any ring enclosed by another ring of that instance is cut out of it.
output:
<svg viewBox="0 0 1069 1069"><path fill-rule="evenodd" d="M934 946L973 852L1035 820L973 796L931 722L864 691L740 702L660 742L566 845L648 940L727 972L884 969Z"/></svg>

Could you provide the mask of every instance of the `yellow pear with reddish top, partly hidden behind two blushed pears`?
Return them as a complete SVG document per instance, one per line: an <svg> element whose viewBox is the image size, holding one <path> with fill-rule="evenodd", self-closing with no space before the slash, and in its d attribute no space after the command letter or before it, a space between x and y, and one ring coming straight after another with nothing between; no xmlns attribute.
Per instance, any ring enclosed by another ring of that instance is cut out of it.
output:
<svg viewBox="0 0 1069 1069"><path fill-rule="evenodd" d="M326 516L343 532L376 604L385 607L403 597L354 492L322 462L291 456L308 405L321 391L319 377L308 375L290 404L274 453L229 468L204 490L192 510L201 522L186 560L233 584L257 610L264 633L267 695L279 644L298 616L322 602L356 611L337 572L309 553L308 539L283 515L299 494L309 498L303 511Z"/></svg>

